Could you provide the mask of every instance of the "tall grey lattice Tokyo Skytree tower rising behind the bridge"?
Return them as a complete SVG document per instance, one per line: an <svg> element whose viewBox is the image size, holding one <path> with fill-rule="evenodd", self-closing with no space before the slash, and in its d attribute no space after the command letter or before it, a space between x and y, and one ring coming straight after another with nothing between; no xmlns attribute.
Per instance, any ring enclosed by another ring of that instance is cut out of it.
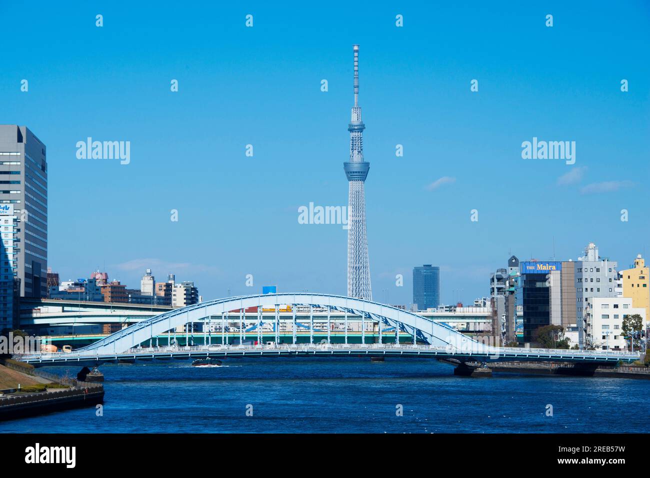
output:
<svg viewBox="0 0 650 478"><path fill-rule="evenodd" d="M363 130L359 107L359 45L354 51L354 107L350 131L350 161L343 163L348 177L348 297L372 299L370 287L370 262L365 227L365 193L363 183L370 163L363 160Z"/></svg>

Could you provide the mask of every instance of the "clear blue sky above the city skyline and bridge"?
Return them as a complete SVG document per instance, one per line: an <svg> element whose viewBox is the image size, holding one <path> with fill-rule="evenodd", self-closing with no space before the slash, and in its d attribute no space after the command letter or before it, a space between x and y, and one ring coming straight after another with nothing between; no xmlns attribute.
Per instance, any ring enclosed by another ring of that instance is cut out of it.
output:
<svg viewBox="0 0 650 478"><path fill-rule="evenodd" d="M545 260L554 243L575 260L595 242L625 266L650 253L650 4L351 5L0 3L0 123L47 145L49 266L131 287L172 270L205 299L264 284L344 294L346 231L301 225L297 208L347 203L352 44L375 299L410 303L425 263L449 303L487 295L510 253ZM87 136L130 141L131 163L78 160ZM575 165L523 160L533 136L575 141Z"/></svg>

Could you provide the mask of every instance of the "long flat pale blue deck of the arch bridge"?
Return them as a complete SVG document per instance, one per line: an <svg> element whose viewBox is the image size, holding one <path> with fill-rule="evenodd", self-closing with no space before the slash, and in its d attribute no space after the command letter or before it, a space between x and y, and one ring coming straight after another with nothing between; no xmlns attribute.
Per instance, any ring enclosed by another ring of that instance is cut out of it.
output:
<svg viewBox="0 0 650 478"><path fill-rule="evenodd" d="M287 344L287 345L230 345L196 347L138 347L123 353L47 353L23 355L17 359L35 366L57 364L101 364L135 360L205 359L227 357L421 357L429 359L459 359L480 362L502 360L543 360L558 362L634 362L638 353L614 351L584 351L566 349L518 349L510 347L482 347L462 350L452 347L395 344Z"/></svg>

